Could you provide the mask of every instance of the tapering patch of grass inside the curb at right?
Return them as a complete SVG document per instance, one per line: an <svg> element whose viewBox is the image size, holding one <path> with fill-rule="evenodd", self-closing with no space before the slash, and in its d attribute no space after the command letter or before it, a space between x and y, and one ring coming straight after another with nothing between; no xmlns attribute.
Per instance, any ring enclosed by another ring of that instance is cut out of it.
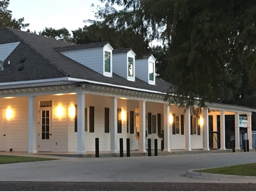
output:
<svg viewBox="0 0 256 192"><path fill-rule="evenodd" d="M219 167L219 168L212 168L212 169L202 169L202 170L197 170L196 172L256 177L256 163L228 166L228 167Z"/></svg>

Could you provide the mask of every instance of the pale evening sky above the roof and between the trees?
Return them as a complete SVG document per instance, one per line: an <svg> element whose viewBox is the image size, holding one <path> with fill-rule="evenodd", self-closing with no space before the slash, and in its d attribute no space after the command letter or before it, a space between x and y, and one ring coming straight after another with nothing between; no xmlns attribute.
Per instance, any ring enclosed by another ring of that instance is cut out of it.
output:
<svg viewBox="0 0 256 192"><path fill-rule="evenodd" d="M104 6L99 0L10 0L8 9L12 18L24 17L23 23L30 23L31 32L43 31L45 27L61 29L65 27L70 32L83 28L83 20L95 20L96 5ZM95 7L91 7L91 4ZM25 30L26 30L25 29ZM24 29L23 29L24 30Z"/></svg>

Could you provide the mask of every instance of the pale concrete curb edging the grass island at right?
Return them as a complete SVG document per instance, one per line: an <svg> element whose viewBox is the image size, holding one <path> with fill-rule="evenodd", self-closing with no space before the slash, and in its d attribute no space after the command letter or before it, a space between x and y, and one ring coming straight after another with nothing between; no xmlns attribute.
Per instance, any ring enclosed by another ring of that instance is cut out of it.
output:
<svg viewBox="0 0 256 192"><path fill-rule="evenodd" d="M195 170L202 170L202 169L188 170L186 172L186 177L193 177L193 178L205 179L205 180L218 180L218 181L225 181L228 183L256 183L256 177L201 173L201 172L195 172Z"/></svg>

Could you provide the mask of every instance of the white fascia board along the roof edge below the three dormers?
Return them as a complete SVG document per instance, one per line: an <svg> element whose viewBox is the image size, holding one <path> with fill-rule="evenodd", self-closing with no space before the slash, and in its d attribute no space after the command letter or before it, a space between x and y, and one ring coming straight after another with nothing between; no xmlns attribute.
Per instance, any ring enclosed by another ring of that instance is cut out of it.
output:
<svg viewBox="0 0 256 192"><path fill-rule="evenodd" d="M87 82L87 83L99 84L99 85L106 85L106 86L111 86L111 87L119 87L119 88L130 89L130 90L145 91L145 92L149 92L149 93L166 94L166 93L159 92L159 91L140 89L140 88L128 87L128 86L111 84L111 83L102 83L102 82L99 82L99 81L90 81L90 80L76 79L76 78L71 78L71 77L69 77L68 80L69 81L81 81L81 82Z"/></svg>

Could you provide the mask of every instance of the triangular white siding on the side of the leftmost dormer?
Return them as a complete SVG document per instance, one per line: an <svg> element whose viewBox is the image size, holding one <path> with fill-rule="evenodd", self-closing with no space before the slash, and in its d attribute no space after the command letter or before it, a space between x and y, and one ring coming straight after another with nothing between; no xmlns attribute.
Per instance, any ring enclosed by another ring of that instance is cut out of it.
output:
<svg viewBox="0 0 256 192"><path fill-rule="evenodd" d="M93 49L81 49L64 51L61 54L67 56L68 58L77 61L78 63L89 67L90 69L103 74L103 48L93 48Z"/></svg>

